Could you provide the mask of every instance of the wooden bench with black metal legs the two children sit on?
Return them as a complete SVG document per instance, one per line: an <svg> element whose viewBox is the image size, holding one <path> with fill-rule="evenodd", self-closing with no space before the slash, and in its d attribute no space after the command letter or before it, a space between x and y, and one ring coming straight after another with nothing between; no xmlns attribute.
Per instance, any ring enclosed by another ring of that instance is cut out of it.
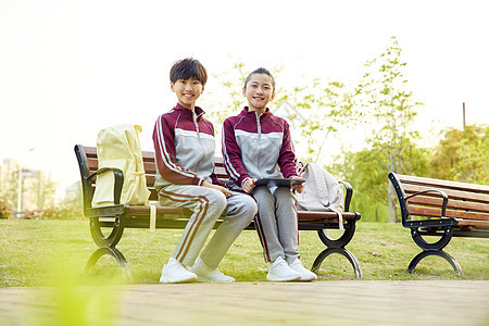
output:
<svg viewBox="0 0 489 326"><path fill-rule="evenodd" d="M122 268L128 271L124 255L115 248L125 228L148 228L150 226L150 206L126 205L120 203L122 185L124 183L123 173L114 168L98 170L97 148L75 146L75 153L78 160L82 175L82 188L84 197L84 214L90 221L90 233L99 249L93 252L87 263L87 269L91 269L97 261L104 254L115 258ZM146 171L146 181L151 191L150 201L158 201L158 193L154 190L155 162L154 153L142 151L142 159ZM112 171L114 173L114 205L104 208L92 208L91 200L96 187L98 174ZM223 159L215 159L215 174L221 181L226 181L228 176L224 168ZM353 193L348 183L342 183L346 187L343 226L344 230L338 238L328 236L326 229L338 229L339 221L334 212L298 212L300 230L316 230L321 241L326 246L314 261L312 271L317 272L324 259L331 253L339 253L346 256L353 266L355 277L362 277L362 269L356 258L344 247L350 242L355 233L355 223L360 220L360 213L348 212ZM184 229L187 225L190 212L180 208L156 205L156 228ZM220 225L217 221L214 227ZM247 229L254 229L252 222Z"/></svg>

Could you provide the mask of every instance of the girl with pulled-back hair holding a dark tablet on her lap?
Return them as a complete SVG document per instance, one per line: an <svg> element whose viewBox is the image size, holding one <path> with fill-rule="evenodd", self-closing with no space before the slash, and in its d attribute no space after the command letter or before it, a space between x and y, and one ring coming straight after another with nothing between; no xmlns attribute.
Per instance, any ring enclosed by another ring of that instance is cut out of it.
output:
<svg viewBox="0 0 489 326"><path fill-rule="evenodd" d="M296 199L290 188L255 186L258 178L300 178L288 123L266 105L275 97L275 79L266 68L253 71L242 95L248 106L224 121L223 155L231 190L251 193L258 203L256 230L265 261L266 279L313 280L317 276L302 266L298 249ZM302 192L304 185L292 186Z"/></svg>

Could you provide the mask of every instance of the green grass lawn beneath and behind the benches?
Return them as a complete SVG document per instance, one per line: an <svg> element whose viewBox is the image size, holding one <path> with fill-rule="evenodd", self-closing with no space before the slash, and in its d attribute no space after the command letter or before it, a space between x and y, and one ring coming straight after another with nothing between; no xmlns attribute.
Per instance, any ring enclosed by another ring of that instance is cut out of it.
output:
<svg viewBox="0 0 489 326"><path fill-rule="evenodd" d="M125 255L131 279L121 278L115 261L103 256L95 276L88 277L85 264L97 249L87 221L0 220L0 287L51 286L64 275L77 284L113 283L156 284L164 262L170 258L181 230L149 231L126 229L117 244ZM311 267L324 249L316 231L301 231L299 251ZM451 265L438 256L423 260L415 273L406 272L410 261L421 252L409 229L400 224L362 223L347 248L356 256L363 279L459 279ZM446 251L455 258L463 279L489 279L489 240L453 238ZM255 231L246 230L236 240L220 269L238 281L265 281L267 264ZM328 256L318 273L319 280L354 279L353 268L339 254Z"/></svg>

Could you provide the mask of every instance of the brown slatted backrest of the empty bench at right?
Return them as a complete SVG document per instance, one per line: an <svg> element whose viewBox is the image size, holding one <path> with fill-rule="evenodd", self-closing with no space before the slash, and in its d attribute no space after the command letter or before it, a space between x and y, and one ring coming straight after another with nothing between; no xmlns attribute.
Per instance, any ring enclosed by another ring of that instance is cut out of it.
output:
<svg viewBox="0 0 489 326"><path fill-rule="evenodd" d="M440 217L442 196L425 192L403 201L410 195L441 190L449 201L444 217L453 217L460 226L489 228L489 186L389 173L389 179L400 198L403 223L414 216Z"/></svg>

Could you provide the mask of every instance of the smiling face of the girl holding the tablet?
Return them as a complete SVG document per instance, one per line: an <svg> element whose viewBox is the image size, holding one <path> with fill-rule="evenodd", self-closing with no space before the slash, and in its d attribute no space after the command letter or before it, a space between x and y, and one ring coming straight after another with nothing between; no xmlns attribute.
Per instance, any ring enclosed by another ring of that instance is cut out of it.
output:
<svg viewBox="0 0 489 326"><path fill-rule="evenodd" d="M266 74L253 74L242 89L250 111L264 112L269 101L275 98L272 77Z"/></svg>

